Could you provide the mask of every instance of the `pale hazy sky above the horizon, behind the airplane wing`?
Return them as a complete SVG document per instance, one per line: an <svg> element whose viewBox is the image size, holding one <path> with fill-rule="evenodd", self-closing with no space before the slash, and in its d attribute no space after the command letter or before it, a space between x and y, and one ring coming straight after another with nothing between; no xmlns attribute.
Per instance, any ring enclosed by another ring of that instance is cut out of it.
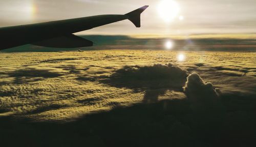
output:
<svg viewBox="0 0 256 147"><path fill-rule="evenodd" d="M129 20L101 26L81 34L191 35L256 33L255 0L174 0L179 11L166 22L159 15L163 0L9 0L0 1L0 26L36 23L100 14L125 14L150 5L141 16L142 27ZM167 1L167 0L165 0ZM171 3L172 4L172 3ZM165 5L170 15L173 6Z"/></svg>

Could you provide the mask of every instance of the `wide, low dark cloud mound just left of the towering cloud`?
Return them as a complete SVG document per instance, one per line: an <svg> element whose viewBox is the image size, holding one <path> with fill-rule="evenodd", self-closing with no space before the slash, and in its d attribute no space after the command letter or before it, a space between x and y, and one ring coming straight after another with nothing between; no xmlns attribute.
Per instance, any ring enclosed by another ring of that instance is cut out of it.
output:
<svg viewBox="0 0 256 147"><path fill-rule="evenodd" d="M180 89L186 81L187 73L172 64L153 66L124 66L105 81L111 85L132 89Z"/></svg>

